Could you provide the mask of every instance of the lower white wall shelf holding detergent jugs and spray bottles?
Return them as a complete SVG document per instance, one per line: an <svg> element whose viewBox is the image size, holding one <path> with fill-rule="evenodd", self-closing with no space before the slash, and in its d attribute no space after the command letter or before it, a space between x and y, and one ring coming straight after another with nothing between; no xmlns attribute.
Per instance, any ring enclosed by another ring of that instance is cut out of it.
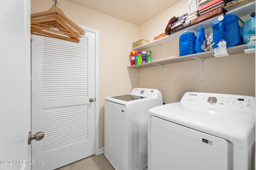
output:
<svg viewBox="0 0 256 170"><path fill-rule="evenodd" d="M247 49L247 44L229 47L229 48L227 48L227 51L228 51L229 55L233 55L233 54L244 53L245 49ZM174 57L174 58L170 58L170 59L153 61L151 63L145 63L145 64L140 64L140 65L135 65L135 66L128 66L127 68L145 68L145 67L156 66L156 64L170 64L170 63L179 63L179 62L183 62L183 61L196 60L193 57L201 58L201 59L212 58L212 57L214 57L214 52L207 51L207 52L203 52L203 53L185 55L182 57Z"/></svg>

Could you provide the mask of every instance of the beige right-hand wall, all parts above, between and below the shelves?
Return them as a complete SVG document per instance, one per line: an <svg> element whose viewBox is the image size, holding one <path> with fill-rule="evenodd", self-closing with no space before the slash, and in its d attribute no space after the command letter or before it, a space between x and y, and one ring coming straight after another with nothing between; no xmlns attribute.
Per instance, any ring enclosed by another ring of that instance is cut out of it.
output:
<svg viewBox="0 0 256 170"><path fill-rule="evenodd" d="M186 12L186 0L181 0L146 21L139 27L140 39L150 41L164 29L173 16ZM183 6L183 7L182 7ZM242 18L248 20L248 16ZM178 39L147 49L152 51L152 61L179 57ZM140 68L139 87L156 87L168 103L178 102L185 92L211 92L255 96L255 54L237 54L228 57L204 59L203 82L200 82L199 61L164 64L164 82L160 66Z"/></svg>

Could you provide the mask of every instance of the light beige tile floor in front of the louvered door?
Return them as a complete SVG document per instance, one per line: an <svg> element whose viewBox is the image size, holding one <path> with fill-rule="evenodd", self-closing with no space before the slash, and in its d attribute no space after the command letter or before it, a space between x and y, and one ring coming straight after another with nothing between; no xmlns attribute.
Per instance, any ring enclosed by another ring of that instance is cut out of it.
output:
<svg viewBox="0 0 256 170"><path fill-rule="evenodd" d="M115 170L104 154L92 155L56 170Z"/></svg>

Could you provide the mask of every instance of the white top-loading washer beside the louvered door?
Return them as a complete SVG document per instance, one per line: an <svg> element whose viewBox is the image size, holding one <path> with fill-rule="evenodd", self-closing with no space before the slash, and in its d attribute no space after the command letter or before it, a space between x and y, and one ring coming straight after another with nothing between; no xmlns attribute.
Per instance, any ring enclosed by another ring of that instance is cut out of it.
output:
<svg viewBox="0 0 256 170"><path fill-rule="evenodd" d="M148 167L148 110L162 104L161 92L147 88L105 99L104 155L116 170Z"/></svg>

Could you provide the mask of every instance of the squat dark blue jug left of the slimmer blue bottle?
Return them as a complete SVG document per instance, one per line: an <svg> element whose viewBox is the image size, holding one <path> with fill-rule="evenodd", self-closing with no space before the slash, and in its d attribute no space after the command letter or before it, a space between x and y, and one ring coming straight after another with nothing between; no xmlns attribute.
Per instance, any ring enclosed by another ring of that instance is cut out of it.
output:
<svg viewBox="0 0 256 170"><path fill-rule="evenodd" d="M193 32L184 31L179 38L180 56L196 53L196 35Z"/></svg>

